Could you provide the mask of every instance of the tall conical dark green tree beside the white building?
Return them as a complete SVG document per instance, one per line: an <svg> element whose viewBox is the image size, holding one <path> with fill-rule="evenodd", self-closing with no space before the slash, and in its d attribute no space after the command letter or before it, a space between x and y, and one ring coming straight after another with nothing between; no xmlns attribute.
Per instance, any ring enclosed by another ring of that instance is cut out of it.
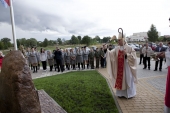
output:
<svg viewBox="0 0 170 113"><path fill-rule="evenodd" d="M148 40L151 42L155 42L158 40L158 31L156 27L152 24L150 30L147 32Z"/></svg>

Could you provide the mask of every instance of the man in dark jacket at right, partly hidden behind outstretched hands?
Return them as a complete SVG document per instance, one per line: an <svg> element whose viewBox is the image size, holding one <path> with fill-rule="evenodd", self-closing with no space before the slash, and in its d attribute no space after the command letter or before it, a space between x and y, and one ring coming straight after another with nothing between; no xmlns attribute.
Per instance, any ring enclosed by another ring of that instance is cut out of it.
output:
<svg viewBox="0 0 170 113"><path fill-rule="evenodd" d="M164 52L165 50L166 50L166 48L163 47L163 43L160 42L159 46L156 47L155 52ZM158 54L158 56L159 56L159 54ZM163 62L163 57L159 56L159 60L157 60L155 62L155 70L154 71L157 71L158 64L159 64L159 71L162 71L162 62Z"/></svg>

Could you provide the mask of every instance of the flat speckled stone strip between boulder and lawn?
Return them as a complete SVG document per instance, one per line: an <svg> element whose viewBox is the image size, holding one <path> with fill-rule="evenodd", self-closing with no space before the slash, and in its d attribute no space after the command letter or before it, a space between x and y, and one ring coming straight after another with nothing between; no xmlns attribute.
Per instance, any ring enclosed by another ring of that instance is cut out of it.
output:
<svg viewBox="0 0 170 113"><path fill-rule="evenodd" d="M38 91L42 113L67 113L44 90Z"/></svg>

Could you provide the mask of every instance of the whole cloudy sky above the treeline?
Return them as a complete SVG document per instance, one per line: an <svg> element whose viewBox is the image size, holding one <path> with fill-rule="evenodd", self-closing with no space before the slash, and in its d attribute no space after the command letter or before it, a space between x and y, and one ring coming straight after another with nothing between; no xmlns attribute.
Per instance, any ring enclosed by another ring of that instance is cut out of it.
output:
<svg viewBox="0 0 170 113"><path fill-rule="evenodd" d="M120 27L129 36L151 24L170 35L169 0L14 0L13 7L17 38L102 38L117 35ZM9 8L0 3L0 38L12 39L10 22Z"/></svg>

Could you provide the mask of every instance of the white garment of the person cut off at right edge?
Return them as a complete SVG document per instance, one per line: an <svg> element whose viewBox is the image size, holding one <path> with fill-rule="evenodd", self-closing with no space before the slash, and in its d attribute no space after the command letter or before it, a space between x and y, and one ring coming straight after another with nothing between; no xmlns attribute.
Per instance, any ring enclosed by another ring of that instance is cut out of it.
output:
<svg viewBox="0 0 170 113"><path fill-rule="evenodd" d="M170 48L168 47L166 52L165 52L165 58L166 58L166 64L167 67L170 66ZM164 112L165 113L170 113L170 108L165 105L164 107Z"/></svg>

